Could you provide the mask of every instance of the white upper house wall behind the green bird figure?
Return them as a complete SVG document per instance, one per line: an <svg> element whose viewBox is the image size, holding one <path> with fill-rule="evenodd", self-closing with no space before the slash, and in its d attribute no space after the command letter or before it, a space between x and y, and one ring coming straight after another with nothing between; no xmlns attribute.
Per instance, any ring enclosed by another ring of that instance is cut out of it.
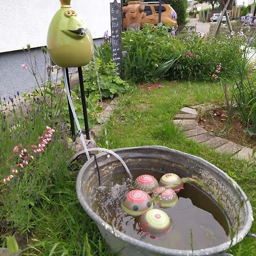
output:
<svg viewBox="0 0 256 256"><path fill-rule="evenodd" d="M0 0L0 52L16 51L30 43L46 46L49 23L60 8L59 0ZM110 31L110 6L106 0L71 0L71 6L88 24L93 38Z"/></svg>

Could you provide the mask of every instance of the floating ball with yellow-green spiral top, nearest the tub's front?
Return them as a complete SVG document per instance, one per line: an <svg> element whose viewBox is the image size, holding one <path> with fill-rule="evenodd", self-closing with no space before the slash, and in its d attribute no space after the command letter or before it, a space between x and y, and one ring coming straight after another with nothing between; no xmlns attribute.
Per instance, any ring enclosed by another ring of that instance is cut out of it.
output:
<svg viewBox="0 0 256 256"><path fill-rule="evenodd" d="M151 237L163 236L172 225L171 218L163 210L151 209L139 218L139 228Z"/></svg>

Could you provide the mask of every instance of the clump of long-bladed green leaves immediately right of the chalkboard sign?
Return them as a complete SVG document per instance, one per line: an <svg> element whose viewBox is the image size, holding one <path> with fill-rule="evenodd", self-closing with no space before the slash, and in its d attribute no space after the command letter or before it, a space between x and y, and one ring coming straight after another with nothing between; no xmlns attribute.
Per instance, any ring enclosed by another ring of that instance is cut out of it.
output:
<svg viewBox="0 0 256 256"><path fill-rule="evenodd" d="M123 60L123 73L127 79L152 82L162 79L180 57L167 44L171 35L168 27L145 24L139 32L127 31L123 34L123 49L127 56Z"/></svg>

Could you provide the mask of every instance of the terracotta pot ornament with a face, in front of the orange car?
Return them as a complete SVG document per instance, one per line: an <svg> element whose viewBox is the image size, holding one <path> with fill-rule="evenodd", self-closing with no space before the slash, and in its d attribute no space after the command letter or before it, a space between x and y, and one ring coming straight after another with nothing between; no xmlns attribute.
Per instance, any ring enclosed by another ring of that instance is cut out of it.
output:
<svg viewBox="0 0 256 256"><path fill-rule="evenodd" d="M140 1L131 1L123 7L123 13L126 14L128 23L140 23L141 19L146 16L146 13L143 13L144 9Z"/></svg>

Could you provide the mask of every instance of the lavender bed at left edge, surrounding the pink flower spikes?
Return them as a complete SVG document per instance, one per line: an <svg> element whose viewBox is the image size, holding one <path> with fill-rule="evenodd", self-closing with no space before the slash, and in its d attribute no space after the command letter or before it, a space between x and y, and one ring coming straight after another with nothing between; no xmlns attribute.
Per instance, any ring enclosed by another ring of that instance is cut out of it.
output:
<svg viewBox="0 0 256 256"><path fill-rule="evenodd" d="M36 207L48 200L52 186L68 174L67 159L71 154L67 148L68 133L57 119L49 117L47 109L30 105L27 110L24 102L12 112L0 112L0 123L0 221L6 223L1 226L1 233L14 229L31 232L36 225ZM55 129L52 141L44 152L35 154L31 146L40 143L38 137L46 132L46 126ZM19 153L15 154L13 149L17 145ZM34 156L27 165L23 164L24 168L16 166L22 162L19 156L22 148ZM18 173L14 174L13 169ZM9 175L13 179L3 182Z"/></svg>

